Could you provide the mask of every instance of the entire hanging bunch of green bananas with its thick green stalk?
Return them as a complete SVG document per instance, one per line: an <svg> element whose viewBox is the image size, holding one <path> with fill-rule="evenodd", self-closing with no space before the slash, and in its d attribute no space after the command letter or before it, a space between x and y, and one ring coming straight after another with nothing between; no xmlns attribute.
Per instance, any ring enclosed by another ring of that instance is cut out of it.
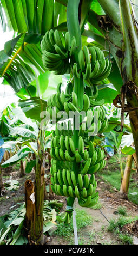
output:
<svg viewBox="0 0 138 256"><path fill-rule="evenodd" d="M56 130L52 133L50 173L52 191L68 197L64 217L57 217L65 226L70 224L75 198L82 207L91 207L97 203L94 173L104 167L105 161L104 151L94 149L93 140L96 129L97 132L103 132L108 127L106 113L101 107L104 99L96 99L98 89L94 84L109 76L111 62L96 46L82 48L79 4L80 0L74 5L71 0L68 1L68 32L65 33L64 42L57 29L45 33L41 42L45 68L54 71L55 75L71 73L65 93L61 92L59 83L57 93L49 97L47 102L50 118L61 121L56 123ZM55 112L53 107L56 107ZM70 118L71 112L78 114L78 120L72 118L72 127L70 120L65 127L63 119L60 119L61 111L66 114L65 119ZM82 113L86 113L86 122L81 117ZM96 113L97 123L94 120ZM34 234L31 235L33 240L36 239Z"/></svg>

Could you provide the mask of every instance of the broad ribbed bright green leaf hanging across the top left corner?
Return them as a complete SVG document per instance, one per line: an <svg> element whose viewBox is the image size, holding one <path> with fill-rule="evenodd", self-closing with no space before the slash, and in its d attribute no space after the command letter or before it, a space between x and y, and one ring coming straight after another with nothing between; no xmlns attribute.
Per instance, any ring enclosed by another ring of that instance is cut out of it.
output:
<svg viewBox="0 0 138 256"><path fill-rule="evenodd" d="M66 7L54 0L1 0L1 4L6 19L18 33L44 35L66 19Z"/></svg>

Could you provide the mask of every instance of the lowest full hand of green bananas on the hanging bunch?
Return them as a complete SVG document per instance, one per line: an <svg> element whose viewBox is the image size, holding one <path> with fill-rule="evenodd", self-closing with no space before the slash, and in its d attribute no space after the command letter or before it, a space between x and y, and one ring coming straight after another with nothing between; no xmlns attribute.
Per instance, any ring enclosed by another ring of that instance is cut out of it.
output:
<svg viewBox="0 0 138 256"><path fill-rule="evenodd" d="M98 200L98 193L95 192L97 182L95 175L76 173L71 169L65 169L57 163L57 160L51 161L51 188L52 191L60 196L69 198L78 198L78 203L83 207L91 207Z"/></svg>

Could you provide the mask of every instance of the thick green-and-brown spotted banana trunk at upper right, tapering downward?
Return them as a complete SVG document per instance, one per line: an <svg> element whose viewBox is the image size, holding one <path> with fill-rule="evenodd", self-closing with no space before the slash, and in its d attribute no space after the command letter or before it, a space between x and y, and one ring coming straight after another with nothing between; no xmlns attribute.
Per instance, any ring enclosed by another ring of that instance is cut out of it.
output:
<svg viewBox="0 0 138 256"><path fill-rule="evenodd" d="M113 54L121 72L124 83L122 93L127 99L130 125L138 160L138 26L135 13L130 0L119 0L119 3L116 0L98 0L98 2L113 26L108 29L109 41L107 47ZM114 8L116 8L115 12ZM97 28L99 29L98 26ZM114 28L116 28L116 32ZM106 37L104 39L107 40Z"/></svg>

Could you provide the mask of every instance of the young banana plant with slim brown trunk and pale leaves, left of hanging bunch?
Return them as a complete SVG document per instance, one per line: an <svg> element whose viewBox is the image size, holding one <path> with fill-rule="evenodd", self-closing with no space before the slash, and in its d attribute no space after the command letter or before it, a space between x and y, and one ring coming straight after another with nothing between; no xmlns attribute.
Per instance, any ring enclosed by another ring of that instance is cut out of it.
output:
<svg viewBox="0 0 138 256"><path fill-rule="evenodd" d="M29 107L30 105L32 106L32 104L34 105L34 107ZM35 107L37 108L38 105L41 105L43 107L44 104L45 106L47 106L47 102L40 100L40 98L38 97L35 97L35 99L23 100L23 102L21 103L21 106L22 108L24 108L25 106L29 107L29 110L31 110L31 108L33 109ZM30 173L32 170L32 167L35 168L35 204L34 204L34 211L32 213L33 218L31 221L31 226L28 227L29 229L35 231L36 227L37 228L39 227L39 230L43 228L42 215L43 215L43 198L44 198L44 185L45 185L45 182L44 182L44 168L45 168L45 157L46 157L45 151L47 148L47 142L51 137L51 132L45 131L45 130L42 131L40 129L40 123L38 122L37 119L40 118L41 111L39 114L38 114L38 111L35 113L36 122L35 121L33 122L30 118L27 118L25 114L22 112L22 109L19 107L16 107L14 109L14 113L16 114L16 116L19 115L19 119L22 120L22 123L24 121L26 127L23 127L23 124L20 124L10 129L11 135L18 137L18 140L15 141L14 143L14 147L19 147L19 150L10 159L2 163L1 167L6 168L8 166L11 166L17 163L18 161L22 161L25 157L29 155L29 153L35 154L35 160L31 160L30 162L28 162L25 169L27 173ZM31 126L31 130L29 125ZM9 145L10 145L10 142L7 142L7 145L5 143L1 147L9 148ZM38 214L39 210L41 212L41 215ZM37 233L37 234L38 236L40 235L40 233Z"/></svg>

